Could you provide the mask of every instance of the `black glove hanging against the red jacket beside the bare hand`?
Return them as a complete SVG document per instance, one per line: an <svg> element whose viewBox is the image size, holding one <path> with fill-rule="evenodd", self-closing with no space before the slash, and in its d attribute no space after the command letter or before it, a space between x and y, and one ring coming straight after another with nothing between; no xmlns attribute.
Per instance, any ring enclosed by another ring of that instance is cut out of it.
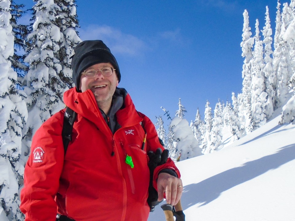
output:
<svg viewBox="0 0 295 221"><path fill-rule="evenodd" d="M153 187L153 176L154 176L154 170L157 166L162 165L167 162L169 155L169 151L167 149L164 149L162 152L162 149L158 148L156 150L156 153L153 151L148 152L149 162L148 162L148 168L150 169L150 184L148 187L148 205L150 206L150 212L155 210L155 206L158 205L160 202L158 201L158 192Z"/></svg>

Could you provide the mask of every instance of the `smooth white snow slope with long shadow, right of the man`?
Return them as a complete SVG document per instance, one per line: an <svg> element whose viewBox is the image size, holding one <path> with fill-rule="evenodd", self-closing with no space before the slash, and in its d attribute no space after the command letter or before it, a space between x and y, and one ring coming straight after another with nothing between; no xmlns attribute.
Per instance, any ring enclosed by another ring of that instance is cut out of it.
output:
<svg viewBox="0 0 295 221"><path fill-rule="evenodd" d="M186 221L295 220L295 125L279 121L277 116L217 152L176 163ZM148 221L163 220L156 206Z"/></svg>

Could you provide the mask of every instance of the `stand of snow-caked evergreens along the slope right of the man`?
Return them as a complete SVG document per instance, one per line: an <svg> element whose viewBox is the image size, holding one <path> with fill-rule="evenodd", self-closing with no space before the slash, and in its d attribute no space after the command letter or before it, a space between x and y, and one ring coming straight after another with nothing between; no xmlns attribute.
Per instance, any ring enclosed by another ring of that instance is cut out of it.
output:
<svg viewBox="0 0 295 221"><path fill-rule="evenodd" d="M231 142L234 142L264 125L279 108L282 110L280 124L295 123L295 1L284 3L283 7L280 1L277 2L274 36L267 6L262 31L256 20L255 33L252 33L247 10L243 16L242 92L238 95L232 93L231 102L219 100L213 113L207 101L204 119L201 119L198 109L195 120L190 123L195 140L185 145L184 140L191 140L190 133L178 134L175 128L180 125L175 124L175 118L185 120L186 110L181 100L173 120L168 111L163 109L166 112L164 116L167 114L172 120L167 134L163 118L157 117L159 137L170 150L173 160L198 156L200 151L194 149L201 148L203 154L221 149L225 134L230 133ZM182 131L185 131L184 125L188 123L182 122Z"/></svg>

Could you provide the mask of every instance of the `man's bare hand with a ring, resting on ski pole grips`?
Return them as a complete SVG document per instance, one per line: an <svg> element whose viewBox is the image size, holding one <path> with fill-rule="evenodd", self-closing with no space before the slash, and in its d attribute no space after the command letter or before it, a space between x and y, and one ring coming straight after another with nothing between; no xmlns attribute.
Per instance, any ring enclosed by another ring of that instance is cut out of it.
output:
<svg viewBox="0 0 295 221"><path fill-rule="evenodd" d="M167 204L176 205L183 191L182 180L168 173L160 173L157 181L158 201L163 200L166 194Z"/></svg>

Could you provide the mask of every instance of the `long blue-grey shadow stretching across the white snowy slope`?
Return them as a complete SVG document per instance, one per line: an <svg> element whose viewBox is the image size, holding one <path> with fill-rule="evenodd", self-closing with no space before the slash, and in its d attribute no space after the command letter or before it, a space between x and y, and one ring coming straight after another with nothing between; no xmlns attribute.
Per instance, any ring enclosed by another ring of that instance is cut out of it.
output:
<svg viewBox="0 0 295 221"><path fill-rule="evenodd" d="M206 205L234 186L251 180L263 173L295 159L295 144L282 147L277 153L250 161L212 176L197 184L185 186L181 204L183 210L195 204Z"/></svg>

